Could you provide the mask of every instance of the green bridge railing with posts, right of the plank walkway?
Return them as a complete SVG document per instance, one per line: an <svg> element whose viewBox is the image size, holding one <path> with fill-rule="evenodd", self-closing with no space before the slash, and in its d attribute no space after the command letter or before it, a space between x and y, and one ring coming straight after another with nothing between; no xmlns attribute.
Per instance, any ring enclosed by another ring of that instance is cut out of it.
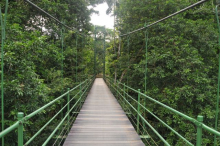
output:
<svg viewBox="0 0 220 146"><path fill-rule="evenodd" d="M180 133L178 133L175 129L171 128L168 124L166 124L162 119L160 119L158 116L156 116L152 111L150 111L146 106L144 106L143 104L141 104L140 102L140 97L144 97L147 100L150 100L152 102L154 102L155 104L162 106L163 108L171 111L173 114L179 115L182 118L190 121L191 123L193 123L196 128L197 128L197 134L196 134L196 146L201 146L202 145L202 131L203 129L216 135L216 136L220 136L220 132L214 130L213 128L205 125L203 123L203 116L198 115L197 119L194 119L190 116L187 116L186 114L183 114L177 110L175 110L172 107L169 107L155 99L153 99L152 97L149 97L147 95L145 95L144 93L141 93L140 90L135 90L127 85L125 85L124 83L121 82L115 82L114 79L106 77L105 81L107 83L107 85L109 86L109 88L112 91L115 91L116 97L118 98L118 100L123 100L123 102L127 105L129 105L132 110L136 113L137 118L136 118L136 131L139 134L140 133L140 120L142 120L142 122L146 125L148 125L148 127L160 138L161 141L163 141L163 143L166 146L170 146L170 144L166 141L165 138L163 138L163 136L156 130L154 129L154 127L145 119L145 117L141 114L140 112L140 108L144 109L144 112L147 112L149 114L151 114L155 119L157 119L160 123L162 123L165 127L167 127L169 130L171 130L173 133L175 133L180 139L182 139L187 145L190 146L194 146L194 144L192 142L190 142L189 140L187 140L186 138L184 138ZM137 95L137 99L133 98L131 95L129 95L128 90L132 90L134 93L136 93ZM134 105L132 105L131 101L135 102L137 104L136 107L134 107Z"/></svg>

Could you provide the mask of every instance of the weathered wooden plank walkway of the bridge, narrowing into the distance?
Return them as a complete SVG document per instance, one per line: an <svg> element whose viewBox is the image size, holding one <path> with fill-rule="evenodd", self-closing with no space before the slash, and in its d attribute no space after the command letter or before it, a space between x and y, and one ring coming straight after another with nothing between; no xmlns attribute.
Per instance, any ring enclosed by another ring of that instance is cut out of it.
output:
<svg viewBox="0 0 220 146"><path fill-rule="evenodd" d="M102 78L96 78L64 146L144 146Z"/></svg>

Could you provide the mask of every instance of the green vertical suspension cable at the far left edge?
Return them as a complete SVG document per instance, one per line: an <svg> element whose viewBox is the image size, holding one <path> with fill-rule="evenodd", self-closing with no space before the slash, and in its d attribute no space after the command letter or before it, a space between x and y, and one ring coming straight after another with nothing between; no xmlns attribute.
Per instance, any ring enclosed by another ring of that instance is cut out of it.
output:
<svg viewBox="0 0 220 146"><path fill-rule="evenodd" d="M8 0L6 0L5 4L5 16L4 21L1 13L1 5L0 5L0 21L1 21L1 109L2 109L2 131L5 129L4 125L4 43L5 43L5 28L6 28L6 20L7 20L7 13L8 13ZM4 146L4 136L2 137L2 146Z"/></svg>

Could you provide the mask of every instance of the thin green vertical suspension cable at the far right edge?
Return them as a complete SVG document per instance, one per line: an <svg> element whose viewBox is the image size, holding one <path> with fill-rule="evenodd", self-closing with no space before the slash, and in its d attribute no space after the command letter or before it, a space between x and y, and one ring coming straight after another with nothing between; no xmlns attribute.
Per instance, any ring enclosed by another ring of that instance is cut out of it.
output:
<svg viewBox="0 0 220 146"><path fill-rule="evenodd" d="M220 46L220 24L219 24L219 17L218 17L218 6L216 6L215 9L215 14L216 14L216 19L217 19L217 24L218 24L218 33L219 33L219 38L218 38L218 44ZM219 47L218 47L219 49ZM217 102L216 102L216 114L215 114L215 130L217 131L218 128L218 114L219 114L219 88L220 88L220 52L219 52L219 69L218 69L218 89L217 89ZM214 146L217 145L217 139L216 135L214 136Z"/></svg>

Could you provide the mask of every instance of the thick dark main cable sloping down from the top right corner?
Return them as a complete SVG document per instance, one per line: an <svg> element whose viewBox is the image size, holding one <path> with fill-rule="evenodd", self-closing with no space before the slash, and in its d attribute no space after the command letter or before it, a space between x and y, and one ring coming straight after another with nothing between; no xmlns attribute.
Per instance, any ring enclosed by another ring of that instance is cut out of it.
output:
<svg viewBox="0 0 220 146"><path fill-rule="evenodd" d="M169 19L169 18L171 18L171 17L173 17L173 16L175 16L175 15L178 15L178 14L180 14L180 13L182 13L182 12L185 12L185 11L187 11L187 10L189 10L189 9L191 9L191 8L193 8L193 7L195 7L195 6L198 6L198 5L200 5L200 4L203 4L204 2L207 2L207 1L208 1L208 0L201 0L201 1L197 2L197 3L195 3L195 4L192 4L192 5L188 6L188 7L186 7L186 8L184 8L184 9L180 10L180 11L175 12L175 13L173 13L173 14L167 16L167 17L164 17L164 18L162 18L162 19L160 19L160 20L158 20L158 21L156 21L156 22L153 22L153 23L147 25L146 27L142 27L142 28L136 29L136 30L131 31L131 32L126 33L126 34L122 34L121 37L127 36L127 35L129 35L129 34L132 34L132 33L135 33L135 32L141 31L141 30L144 30L144 29L146 29L146 28L148 28L148 27L151 27L151 26L153 26L153 25L155 25L155 24L157 24L157 23L159 23L159 22L162 22L162 21L164 21L164 20L166 20L166 19Z"/></svg>

